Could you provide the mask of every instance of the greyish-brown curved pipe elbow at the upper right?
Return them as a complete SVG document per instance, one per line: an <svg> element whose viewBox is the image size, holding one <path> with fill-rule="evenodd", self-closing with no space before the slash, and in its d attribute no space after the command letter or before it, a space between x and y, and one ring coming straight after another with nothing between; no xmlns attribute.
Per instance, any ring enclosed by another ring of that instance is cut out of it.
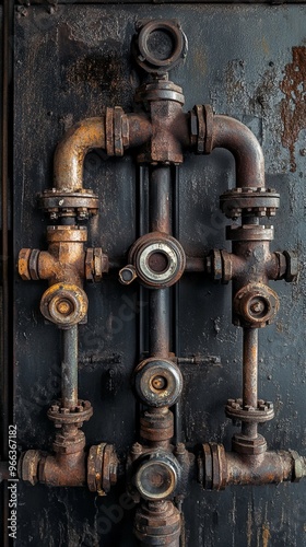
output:
<svg viewBox="0 0 306 547"><path fill-rule="evenodd" d="M251 130L228 116L213 116L214 148L225 148L235 158L237 187L264 187L264 159Z"/></svg>

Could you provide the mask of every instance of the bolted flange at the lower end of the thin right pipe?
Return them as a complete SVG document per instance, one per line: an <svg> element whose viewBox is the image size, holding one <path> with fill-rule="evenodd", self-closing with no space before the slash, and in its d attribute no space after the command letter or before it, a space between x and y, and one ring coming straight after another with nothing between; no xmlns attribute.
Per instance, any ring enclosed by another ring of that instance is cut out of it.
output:
<svg viewBox="0 0 306 547"><path fill-rule="evenodd" d="M257 408L254 408L249 405L243 406L243 399L228 399L225 414L234 422L264 423L274 418L274 408L270 400L259 399Z"/></svg>

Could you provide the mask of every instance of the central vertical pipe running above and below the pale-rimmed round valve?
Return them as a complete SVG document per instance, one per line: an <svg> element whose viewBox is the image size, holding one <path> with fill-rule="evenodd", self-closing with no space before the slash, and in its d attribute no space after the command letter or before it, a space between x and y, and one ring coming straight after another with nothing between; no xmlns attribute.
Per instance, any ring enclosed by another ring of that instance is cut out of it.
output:
<svg viewBox="0 0 306 547"><path fill-rule="evenodd" d="M170 233L170 167L150 170L150 230ZM150 292L150 353L168 357L169 353L169 290Z"/></svg>

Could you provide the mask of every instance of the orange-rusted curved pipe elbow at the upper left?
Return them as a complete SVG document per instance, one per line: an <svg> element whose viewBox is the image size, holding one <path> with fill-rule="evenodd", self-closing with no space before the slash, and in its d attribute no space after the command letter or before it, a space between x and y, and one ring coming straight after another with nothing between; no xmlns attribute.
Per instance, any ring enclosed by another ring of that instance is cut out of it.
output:
<svg viewBox="0 0 306 547"><path fill-rule="evenodd" d="M83 163L94 148L105 149L105 117L86 118L71 127L55 153L55 187L63 191L83 188Z"/></svg>

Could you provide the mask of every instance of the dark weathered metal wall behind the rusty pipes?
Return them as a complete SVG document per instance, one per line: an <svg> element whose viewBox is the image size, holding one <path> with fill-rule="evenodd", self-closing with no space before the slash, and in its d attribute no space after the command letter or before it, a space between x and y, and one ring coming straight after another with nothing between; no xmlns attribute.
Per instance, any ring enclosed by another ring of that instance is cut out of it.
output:
<svg viewBox="0 0 306 547"><path fill-rule="evenodd" d="M306 16L303 5L167 4L30 7L15 14L14 50L14 253L46 248L47 220L36 196L52 186L52 154L63 132L106 106L131 112L139 75L130 39L139 19L177 19L189 42L184 65L172 71L183 86L186 110L212 104L214 112L246 124L263 148L268 186L281 194L274 251L299 253L305 261ZM229 153L187 155L177 179L178 238L186 254L226 247L226 220L219 195L234 185ZM96 151L85 162L85 187L96 190L101 213L90 243L122 258L139 234L139 173L132 153L108 159ZM145 182L144 182L145 190ZM179 191L178 191L179 190ZM145 207L142 209L145 223ZM276 323L259 333L259 395L275 404L266 424L271 449L306 454L305 274L273 287L281 298ZM274 283L272 283L274 284ZM19 447L49 450L52 424L46 411L59 391L59 331L39 313L42 281L14 290L14 411ZM137 405L130 376L138 362L139 323L145 314L136 284L116 272L87 286L89 322L80 327L80 395L94 417L89 444L107 441L123 456L137 438ZM185 274L178 290L176 328L180 357L203 356L183 368L181 439L231 445L224 416L228 397L242 391L240 330L231 323L231 288L201 274ZM144 345L144 346L143 346ZM140 347L142 346L142 347ZM212 357L212 359L207 359ZM107 498L83 488L19 485L17 547L136 545L133 510L122 501L123 479ZM305 485L232 487L204 492L190 485L184 502L186 545L302 547L306 544Z"/></svg>

